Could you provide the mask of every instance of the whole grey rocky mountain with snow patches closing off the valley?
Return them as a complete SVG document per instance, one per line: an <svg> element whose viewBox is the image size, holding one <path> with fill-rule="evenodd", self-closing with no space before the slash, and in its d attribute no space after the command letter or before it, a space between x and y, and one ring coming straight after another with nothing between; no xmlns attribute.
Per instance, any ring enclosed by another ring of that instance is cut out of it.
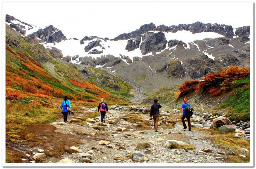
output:
<svg viewBox="0 0 256 169"><path fill-rule="evenodd" d="M12 16L6 17L9 26L15 22L17 26L25 24ZM28 37L38 40L66 62L104 69L138 86L143 84L135 77L147 75L151 84L154 74L160 81L166 78L184 81L200 78L221 67L249 66L250 59L250 26L232 28L201 22L155 26L149 23L113 39L85 36L67 40L51 25Z"/></svg>

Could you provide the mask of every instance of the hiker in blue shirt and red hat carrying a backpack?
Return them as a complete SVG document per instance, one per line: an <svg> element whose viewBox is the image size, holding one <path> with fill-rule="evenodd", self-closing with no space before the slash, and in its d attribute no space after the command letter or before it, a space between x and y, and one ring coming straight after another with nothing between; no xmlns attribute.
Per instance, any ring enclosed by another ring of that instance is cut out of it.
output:
<svg viewBox="0 0 256 169"><path fill-rule="evenodd" d="M181 121L183 123L184 129L187 129L185 118L187 118L188 123L188 131L191 131L191 123L190 123L190 111L191 111L191 105L190 103L187 103L187 99L185 98L183 100L183 104L181 105Z"/></svg>

